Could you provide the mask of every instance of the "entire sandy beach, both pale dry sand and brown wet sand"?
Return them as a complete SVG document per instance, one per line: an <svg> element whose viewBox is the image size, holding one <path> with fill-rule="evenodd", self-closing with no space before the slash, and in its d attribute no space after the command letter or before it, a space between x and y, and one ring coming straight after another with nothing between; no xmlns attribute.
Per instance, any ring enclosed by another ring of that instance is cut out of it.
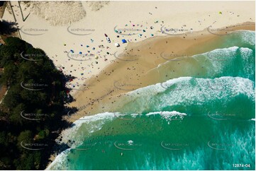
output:
<svg viewBox="0 0 256 171"><path fill-rule="evenodd" d="M67 87L74 97L69 107L79 110L67 114L69 122L115 112L118 98L129 91L179 77L182 64L175 59L189 64L194 54L218 48L221 35L255 30L254 1L82 1L70 8L66 20L62 15L69 4L60 6L53 20L49 11L56 7L44 3L42 8L43 3L12 1L14 15L7 6L2 19L16 21L21 38L43 49L69 76ZM169 61L175 63L174 74L160 78L157 66ZM200 72L204 69L194 74Z"/></svg>

